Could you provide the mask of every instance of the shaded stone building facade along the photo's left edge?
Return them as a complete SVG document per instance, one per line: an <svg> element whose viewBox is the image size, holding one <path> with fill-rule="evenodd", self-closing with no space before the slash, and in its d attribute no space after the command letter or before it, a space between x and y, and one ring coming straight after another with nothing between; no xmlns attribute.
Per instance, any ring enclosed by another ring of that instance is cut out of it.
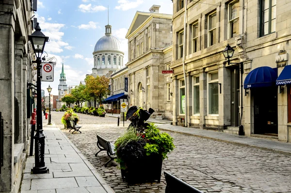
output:
<svg viewBox="0 0 291 193"><path fill-rule="evenodd" d="M5 193L19 190L30 141L33 95L28 83L36 85L28 41L31 7L31 0L0 1L0 192Z"/></svg>

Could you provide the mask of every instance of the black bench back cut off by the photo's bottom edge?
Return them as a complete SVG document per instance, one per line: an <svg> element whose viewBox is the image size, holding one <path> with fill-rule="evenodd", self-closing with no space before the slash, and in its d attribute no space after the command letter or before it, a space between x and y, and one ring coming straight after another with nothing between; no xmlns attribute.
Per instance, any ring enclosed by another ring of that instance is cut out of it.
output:
<svg viewBox="0 0 291 193"><path fill-rule="evenodd" d="M164 172L164 176L167 183L165 193L203 193L168 172Z"/></svg>

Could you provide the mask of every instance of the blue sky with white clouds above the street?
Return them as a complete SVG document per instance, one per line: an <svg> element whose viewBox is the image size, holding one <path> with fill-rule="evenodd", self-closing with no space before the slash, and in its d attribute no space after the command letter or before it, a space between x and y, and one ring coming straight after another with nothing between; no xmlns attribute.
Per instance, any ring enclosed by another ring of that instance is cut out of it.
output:
<svg viewBox="0 0 291 193"><path fill-rule="evenodd" d="M105 25L112 25L113 35L121 42L128 61L128 41L125 35L136 11L149 12L152 5L160 5L160 13L172 14L171 0L38 0L35 17L42 32L49 36L45 51L55 57L54 82L42 82L52 87L52 94L58 95L62 61L67 85L79 85L86 74L92 73L93 51L97 41L105 34ZM47 57L48 58L48 57Z"/></svg>

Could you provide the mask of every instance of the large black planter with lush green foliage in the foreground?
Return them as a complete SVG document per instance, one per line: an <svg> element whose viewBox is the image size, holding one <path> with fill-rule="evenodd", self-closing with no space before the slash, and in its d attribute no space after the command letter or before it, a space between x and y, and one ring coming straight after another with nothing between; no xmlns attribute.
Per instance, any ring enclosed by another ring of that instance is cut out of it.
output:
<svg viewBox="0 0 291 193"><path fill-rule="evenodd" d="M162 161L175 148L169 134L160 133L154 124L145 123L153 112L153 109L130 107L129 128L115 142L116 162L120 163L122 178L129 184L160 182Z"/></svg>

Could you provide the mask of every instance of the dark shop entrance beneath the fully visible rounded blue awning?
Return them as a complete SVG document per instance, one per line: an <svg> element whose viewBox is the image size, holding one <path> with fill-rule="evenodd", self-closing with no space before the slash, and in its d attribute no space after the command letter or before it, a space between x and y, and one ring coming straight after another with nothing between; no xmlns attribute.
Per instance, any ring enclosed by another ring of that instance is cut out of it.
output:
<svg viewBox="0 0 291 193"><path fill-rule="evenodd" d="M251 90L254 97L254 134L278 134L277 88Z"/></svg>

